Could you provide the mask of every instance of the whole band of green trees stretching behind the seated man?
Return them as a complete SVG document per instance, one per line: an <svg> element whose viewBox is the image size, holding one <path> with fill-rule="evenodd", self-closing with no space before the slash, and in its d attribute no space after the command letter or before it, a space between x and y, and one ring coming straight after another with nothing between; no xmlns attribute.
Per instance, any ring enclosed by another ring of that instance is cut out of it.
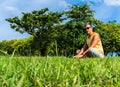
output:
<svg viewBox="0 0 120 87"><path fill-rule="evenodd" d="M120 24L104 23L94 18L88 4L73 5L63 12L51 12L48 8L23 12L22 17L7 18L12 29L31 36L19 40L0 42L0 50L17 55L71 56L80 49L86 38L84 24L91 23L101 36L105 53L120 47Z"/></svg>

